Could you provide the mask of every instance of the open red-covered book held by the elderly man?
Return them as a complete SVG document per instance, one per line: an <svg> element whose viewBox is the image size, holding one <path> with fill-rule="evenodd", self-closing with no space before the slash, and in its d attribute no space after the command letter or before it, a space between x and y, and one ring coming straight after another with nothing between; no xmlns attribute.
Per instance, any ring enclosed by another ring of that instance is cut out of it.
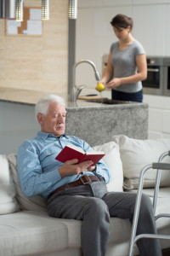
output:
<svg viewBox="0 0 170 256"><path fill-rule="evenodd" d="M77 159L78 163L86 160L92 160L95 166L97 162L105 155L103 151L89 151L84 152L82 148L68 144L61 150L61 152L56 156L56 160L65 163L67 160Z"/></svg>

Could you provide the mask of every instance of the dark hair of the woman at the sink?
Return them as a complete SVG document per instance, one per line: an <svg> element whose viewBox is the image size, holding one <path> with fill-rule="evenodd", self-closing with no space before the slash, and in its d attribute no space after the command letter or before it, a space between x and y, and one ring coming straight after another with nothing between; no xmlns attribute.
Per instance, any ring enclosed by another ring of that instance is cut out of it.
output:
<svg viewBox="0 0 170 256"><path fill-rule="evenodd" d="M111 20L111 26L115 26L116 28L127 28L127 26L131 26L131 30L133 28L133 19L127 17L126 15L116 15Z"/></svg>

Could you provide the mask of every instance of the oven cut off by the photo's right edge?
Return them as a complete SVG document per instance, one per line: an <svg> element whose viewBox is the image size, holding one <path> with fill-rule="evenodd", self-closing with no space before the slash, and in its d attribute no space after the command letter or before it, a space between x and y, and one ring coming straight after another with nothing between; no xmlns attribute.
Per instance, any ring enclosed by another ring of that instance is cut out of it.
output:
<svg viewBox="0 0 170 256"><path fill-rule="evenodd" d="M164 58L163 95L170 96L170 57Z"/></svg>

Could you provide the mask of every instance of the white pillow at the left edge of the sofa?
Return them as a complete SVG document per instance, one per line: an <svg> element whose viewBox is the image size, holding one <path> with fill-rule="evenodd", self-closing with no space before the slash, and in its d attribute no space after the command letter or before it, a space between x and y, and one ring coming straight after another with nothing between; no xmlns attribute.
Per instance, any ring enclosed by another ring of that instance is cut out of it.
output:
<svg viewBox="0 0 170 256"><path fill-rule="evenodd" d="M5 154L0 154L0 214L17 212L20 207L15 198L14 182Z"/></svg>

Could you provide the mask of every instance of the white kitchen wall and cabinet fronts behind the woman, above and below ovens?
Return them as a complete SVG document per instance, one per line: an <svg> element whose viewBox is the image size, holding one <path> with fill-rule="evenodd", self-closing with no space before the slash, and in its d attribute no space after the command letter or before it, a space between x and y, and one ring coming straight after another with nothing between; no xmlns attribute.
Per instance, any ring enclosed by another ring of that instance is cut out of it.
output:
<svg viewBox="0 0 170 256"><path fill-rule="evenodd" d="M133 37L143 44L146 55L170 56L170 0L78 0L77 61L94 61L102 73L102 55L117 40L110 21L119 13L133 18ZM87 64L77 67L76 78L77 85L88 85L81 95L98 94L93 69ZM111 97L111 92L102 96ZM165 98L170 106L170 97ZM144 102L149 103L149 137L170 137L170 108L165 104L162 108L164 97L147 95Z"/></svg>

